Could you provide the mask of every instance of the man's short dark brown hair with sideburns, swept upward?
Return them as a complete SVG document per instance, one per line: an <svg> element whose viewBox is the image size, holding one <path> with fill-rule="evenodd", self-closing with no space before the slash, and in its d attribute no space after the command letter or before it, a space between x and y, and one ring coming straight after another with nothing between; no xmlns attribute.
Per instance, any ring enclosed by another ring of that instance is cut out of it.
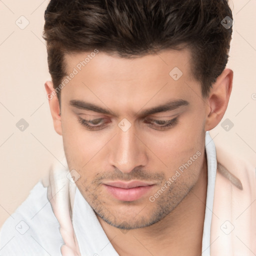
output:
<svg viewBox="0 0 256 256"><path fill-rule="evenodd" d="M232 19L227 0L50 0L42 37L53 86L67 75L65 53L96 48L133 58L185 45L206 97L228 59L226 16Z"/></svg>

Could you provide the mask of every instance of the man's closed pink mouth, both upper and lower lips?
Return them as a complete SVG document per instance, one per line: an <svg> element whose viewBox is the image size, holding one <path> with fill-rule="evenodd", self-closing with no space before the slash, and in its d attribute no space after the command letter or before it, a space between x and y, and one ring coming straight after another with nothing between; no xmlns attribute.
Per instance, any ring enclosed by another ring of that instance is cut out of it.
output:
<svg viewBox="0 0 256 256"><path fill-rule="evenodd" d="M134 201L145 195L154 187L155 182L133 180L130 182L108 181L102 183L106 191L115 199Z"/></svg>

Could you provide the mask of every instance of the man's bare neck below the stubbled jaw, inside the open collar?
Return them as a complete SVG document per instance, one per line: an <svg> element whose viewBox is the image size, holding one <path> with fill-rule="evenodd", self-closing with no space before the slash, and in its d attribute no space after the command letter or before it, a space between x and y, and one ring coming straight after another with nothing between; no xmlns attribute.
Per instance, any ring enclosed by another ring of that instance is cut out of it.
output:
<svg viewBox="0 0 256 256"><path fill-rule="evenodd" d="M207 190L207 161L198 181L185 198L163 219L151 226L121 230L97 216L120 256L200 255Z"/></svg>

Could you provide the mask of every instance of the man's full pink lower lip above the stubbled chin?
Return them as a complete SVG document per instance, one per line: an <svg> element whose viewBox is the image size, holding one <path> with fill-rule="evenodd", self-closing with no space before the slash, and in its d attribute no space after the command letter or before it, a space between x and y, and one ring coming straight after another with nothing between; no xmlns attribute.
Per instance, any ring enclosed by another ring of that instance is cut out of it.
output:
<svg viewBox="0 0 256 256"><path fill-rule="evenodd" d="M132 188L120 188L115 186L105 185L105 188L110 192L116 199L121 201L134 201L139 199L142 195L147 193L154 185L148 186L137 186Z"/></svg>

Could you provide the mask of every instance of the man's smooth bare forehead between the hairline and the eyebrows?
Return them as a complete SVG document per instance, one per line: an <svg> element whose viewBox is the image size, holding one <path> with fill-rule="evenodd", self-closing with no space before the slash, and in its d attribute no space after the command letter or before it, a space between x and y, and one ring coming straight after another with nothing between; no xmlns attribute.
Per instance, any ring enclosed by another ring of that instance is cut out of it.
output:
<svg viewBox="0 0 256 256"><path fill-rule="evenodd" d="M88 99L98 105L119 108L153 106L169 99L190 99L191 89L200 86L191 74L191 55L187 49L164 50L136 58L123 58L105 52L65 55L66 73L72 78L61 90L63 97ZM189 86L189 87L188 87ZM150 101L150 102L149 102ZM148 103L147 103L148 102Z"/></svg>

